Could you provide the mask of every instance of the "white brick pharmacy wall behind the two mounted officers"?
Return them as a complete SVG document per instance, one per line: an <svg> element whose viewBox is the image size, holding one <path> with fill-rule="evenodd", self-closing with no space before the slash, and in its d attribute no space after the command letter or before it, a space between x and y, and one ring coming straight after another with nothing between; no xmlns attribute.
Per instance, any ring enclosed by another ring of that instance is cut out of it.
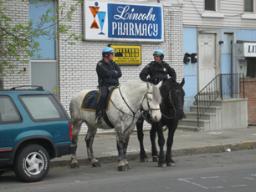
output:
<svg viewBox="0 0 256 192"><path fill-rule="evenodd" d="M65 1L59 1L64 3ZM74 2L68 1L69 6ZM75 13L72 32L82 34L82 10ZM109 43L115 45L141 45L141 65L120 66L123 76L120 83L139 79L141 69L153 60L152 53L161 48L165 53L165 61L176 69L177 80L183 78L183 47L182 47L182 10L179 7L164 6L165 42L163 43L131 43L131 42L100 42L79 41L75 46L59 39L59 89L60 101L69 109L69 101L81 89L95 89L97 86L96 63L101 59L101 51ZM148 125L147 125L148 126ZM146 127L147 127L146 126ZM85 131L81 129L80 133Z"/></svg>

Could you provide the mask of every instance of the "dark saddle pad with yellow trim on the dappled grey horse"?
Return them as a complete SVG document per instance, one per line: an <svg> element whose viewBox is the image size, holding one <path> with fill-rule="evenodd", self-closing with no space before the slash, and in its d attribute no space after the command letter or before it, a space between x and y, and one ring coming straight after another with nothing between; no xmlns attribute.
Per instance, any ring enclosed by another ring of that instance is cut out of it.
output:
<svg viewBox="0 0 256 192"><path fill-rule="evenodd" d="M110 99L112 97L112 93L115 88L111 89L108 93L107 100L105 103L105 111L110 108ZM98 90L92 90L84 95L84 99L81 104L81 109L88 110L88 111L96 111L97 101L99 99L100 93Z"/></svg>

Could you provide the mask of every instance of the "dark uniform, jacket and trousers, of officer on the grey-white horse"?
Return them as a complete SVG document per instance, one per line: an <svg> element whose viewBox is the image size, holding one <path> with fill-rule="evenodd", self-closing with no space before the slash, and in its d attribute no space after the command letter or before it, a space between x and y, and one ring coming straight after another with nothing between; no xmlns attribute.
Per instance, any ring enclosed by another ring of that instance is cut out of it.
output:
<svg viewBox="0 0 256 192"><path fill-rule="evenodd" d="M100 110L105 104L108 88L110 86L119 85L118 78L122 76L122 73L120 67L114 61L105 62L104 59L97 63L96 72L98 74L98 83L100 88L100 97L98 99L96 113L100 114Z"/></svg>

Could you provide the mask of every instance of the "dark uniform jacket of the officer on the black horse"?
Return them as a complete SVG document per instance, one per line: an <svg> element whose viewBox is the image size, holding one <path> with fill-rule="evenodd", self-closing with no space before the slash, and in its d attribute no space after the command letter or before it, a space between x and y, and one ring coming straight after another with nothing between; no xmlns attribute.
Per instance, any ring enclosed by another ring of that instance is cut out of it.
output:
<svg viewBox="0 0 256 192"><path fill-rule="evenodd" d="M164 61L161 63L152 61L142 69L140 78L142 81L149 81L150 83L158 84L160 81L166 80L168 75L176 81L176 72L168 63ZM147 76L149 76L149 78Z"/></svg>

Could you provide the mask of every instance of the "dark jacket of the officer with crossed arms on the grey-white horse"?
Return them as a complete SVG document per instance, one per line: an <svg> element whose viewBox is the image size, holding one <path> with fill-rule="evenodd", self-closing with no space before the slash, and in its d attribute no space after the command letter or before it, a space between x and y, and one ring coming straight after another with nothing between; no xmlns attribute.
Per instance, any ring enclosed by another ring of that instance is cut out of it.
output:
<svg viewBox="0 0 256 192"><path fill-rule="evenodd" d="M115 73L115 71L117 73ZM98 74L99 86L117 86L119 85L119 80L122 76L120 67L114 62L111 61L110 64L106 63L104 59L100 60L97 64L96 72Z"/></svg>

